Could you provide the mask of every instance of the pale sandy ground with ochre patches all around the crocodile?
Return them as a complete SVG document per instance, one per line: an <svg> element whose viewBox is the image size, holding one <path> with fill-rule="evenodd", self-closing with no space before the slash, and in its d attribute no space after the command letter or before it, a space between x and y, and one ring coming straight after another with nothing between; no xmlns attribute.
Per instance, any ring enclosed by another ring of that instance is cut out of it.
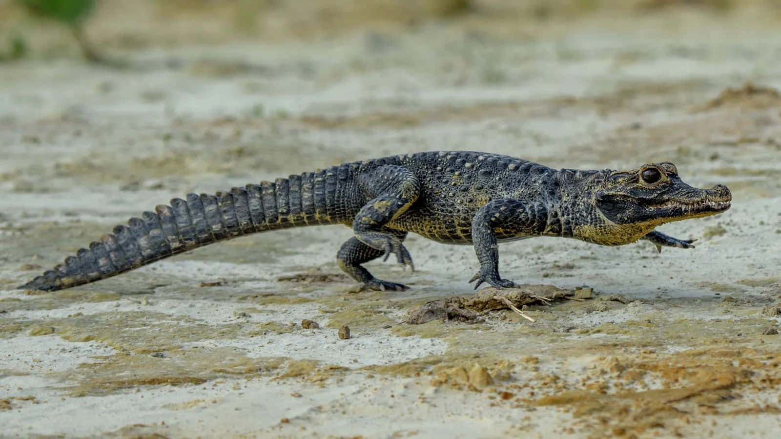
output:
<svg viewBox="0 0 781 439"><path fill-rule="evenodd" d="M776 436L781 30L681 17L142 49L131 70L0 66L0 436ZM170 57L181 66L162 67ZM473 249L410 237L415 273L370 269L412 289L355 293L327 276L344 227L12 290L187 191L433 149L668 160L690 184L728 185L733 208L661 228L699 239L690 251L503 244L505 277L597 293L530 306L535 323L400 323L472 294ZM279 280L298 273L312 276Z"/></svg>

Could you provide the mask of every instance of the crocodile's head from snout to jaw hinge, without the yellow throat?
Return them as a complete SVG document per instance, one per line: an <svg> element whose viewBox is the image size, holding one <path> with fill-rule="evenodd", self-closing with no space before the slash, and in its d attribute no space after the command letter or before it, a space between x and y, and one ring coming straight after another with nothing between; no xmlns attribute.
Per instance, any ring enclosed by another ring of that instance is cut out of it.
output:
<svg viewBox="0 0 781 439"><path fill-rule="evenodd" d="M615 224L662 223L715 215L729 209L732 194L717 184L710 189L683 183L670 162L637 170L613 171L594 191L597 209Z"/></svg>

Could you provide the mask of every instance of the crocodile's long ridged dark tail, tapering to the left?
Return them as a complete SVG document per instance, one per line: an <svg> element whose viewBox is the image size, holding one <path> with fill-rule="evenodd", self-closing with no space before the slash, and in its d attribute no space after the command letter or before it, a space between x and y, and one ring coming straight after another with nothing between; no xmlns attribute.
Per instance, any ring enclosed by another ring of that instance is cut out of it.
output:
<svg viewBox="0 0 781 439"><path fill-rule="evenodd" d="M350 223L346 209L334 209L341 168L304 173L274 182L234 187L216 195L188 194L158 205L155 212L131 218L100 241L80 248L65 262L21 285L20 289L54 291L116 276L159 259L217 241L266 230L306 225ZM329 184L332 180L333 184ZM344 183L344 180L342 181ZM341 216L344 216L342 218Z"/></svg>

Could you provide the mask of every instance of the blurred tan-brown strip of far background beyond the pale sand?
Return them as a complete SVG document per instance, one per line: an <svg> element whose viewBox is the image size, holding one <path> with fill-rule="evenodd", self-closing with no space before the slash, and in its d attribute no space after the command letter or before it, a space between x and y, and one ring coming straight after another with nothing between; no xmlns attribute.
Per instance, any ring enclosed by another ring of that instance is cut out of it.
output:
<svg viewBox="0 0 781 439"><path fill-rule="evenodd" d="M32 8L30 6L33 6ZM34 13L30 13L33 9ZM591 24L636 28L652 18L738 18L751 26L778 20L777 0L2 0L6 41L22 37L49 56L66 50L65 31L40 19L80 16L100 45L142 49L236 40L337 37L355 30L412 32L430 23L533 38L540 27ZM73 14L73 12L80 12ZM752 22L752 23L749 23ZM676 23L669 23L675 25Z"/></svg>

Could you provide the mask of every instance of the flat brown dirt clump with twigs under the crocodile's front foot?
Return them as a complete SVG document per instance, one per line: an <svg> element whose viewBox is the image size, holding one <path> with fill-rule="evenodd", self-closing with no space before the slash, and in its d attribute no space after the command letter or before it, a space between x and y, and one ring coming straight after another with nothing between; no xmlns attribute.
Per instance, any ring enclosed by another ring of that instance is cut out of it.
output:
<svg viewBox="0 0 781 439"><path fill-rule="evenodd" d="M547 305L564 299L585 300L577 297L579 294L583 295L580 291L564 290L552 285L522 285L519 288L502 290L487 287L473 296L433 300L420 305L409 312L406 323L419 325L435 319L477 323L483 321L481 315L485 312L510 308L508 303L520 308L523 305Z"/></svg>

